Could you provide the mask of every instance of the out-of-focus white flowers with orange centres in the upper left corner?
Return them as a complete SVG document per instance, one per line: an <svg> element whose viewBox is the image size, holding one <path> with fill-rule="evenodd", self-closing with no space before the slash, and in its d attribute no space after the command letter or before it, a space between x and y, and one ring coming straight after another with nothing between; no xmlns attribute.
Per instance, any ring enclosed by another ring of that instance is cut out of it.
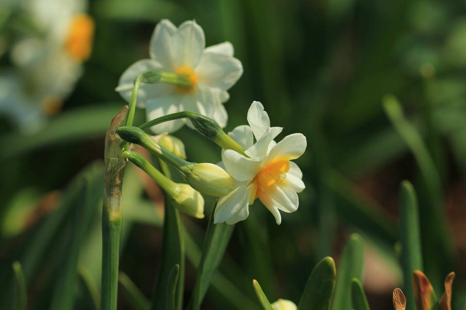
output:
<svg viewBox="0 0 466 310"><path fill-rule="evenodd" d="M23 130L31 130L47 114L57 113L74 89L82 63L91 52L94 21L84 13L85 0L11 3L12 10L21 16L15 22L27 20L30 25L19 32L11 46L14 67L7 69L8 73L3 70L0 76L16 85L14 96L0 94L0 111L12 116Z"/></svg>

